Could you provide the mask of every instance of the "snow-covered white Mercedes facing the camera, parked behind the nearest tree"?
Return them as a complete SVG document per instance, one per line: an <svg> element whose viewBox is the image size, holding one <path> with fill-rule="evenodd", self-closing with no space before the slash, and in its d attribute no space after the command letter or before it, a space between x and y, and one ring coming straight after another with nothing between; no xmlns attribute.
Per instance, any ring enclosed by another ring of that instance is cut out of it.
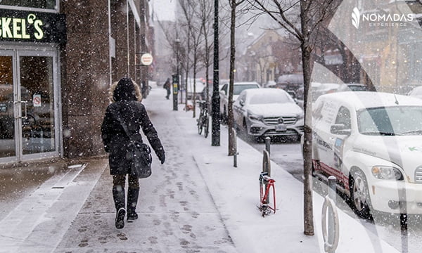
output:
<svg viewBox="0 0 422 253"><path fill-rule="evenodd" d="M302 136L303 110L282 89L244 90L233 107L236 128L248 136Z"/></svg>

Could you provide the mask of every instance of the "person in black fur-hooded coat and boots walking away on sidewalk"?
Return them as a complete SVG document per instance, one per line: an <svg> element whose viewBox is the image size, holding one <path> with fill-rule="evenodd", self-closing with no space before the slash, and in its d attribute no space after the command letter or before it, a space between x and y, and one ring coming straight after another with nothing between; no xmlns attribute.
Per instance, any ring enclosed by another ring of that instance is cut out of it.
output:
<svg viewBox="0 0 422 253"><path fill-rule="evenodd" d="M132 159L127 157L130 141L120 120L126 124L129 134L135 141L142 141L140 132L142 129L161 164L165 162L165 152L146 108L141 103L142 96L139 86L132 82L132 79L125 77L111 87L110 95L112 103L108 105L101 125L101 137L104 148L109 153L110 174L113 176L113 200L116 207L115 226L123 228L126 214L128 222L138 219L135 209L139 196L139 179L130 174ZM126 175L128 175L129 186L125 208Z"/></svg>

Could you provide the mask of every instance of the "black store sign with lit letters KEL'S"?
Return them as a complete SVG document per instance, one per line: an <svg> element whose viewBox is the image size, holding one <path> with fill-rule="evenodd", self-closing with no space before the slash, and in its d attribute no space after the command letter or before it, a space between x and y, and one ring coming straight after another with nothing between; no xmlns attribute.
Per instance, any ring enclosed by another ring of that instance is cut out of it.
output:
<svg viewBox="0 0 422 253"><path fill-rule="evenodd" d="M66 41L65 15L0 9L0 41Z"/></svg>

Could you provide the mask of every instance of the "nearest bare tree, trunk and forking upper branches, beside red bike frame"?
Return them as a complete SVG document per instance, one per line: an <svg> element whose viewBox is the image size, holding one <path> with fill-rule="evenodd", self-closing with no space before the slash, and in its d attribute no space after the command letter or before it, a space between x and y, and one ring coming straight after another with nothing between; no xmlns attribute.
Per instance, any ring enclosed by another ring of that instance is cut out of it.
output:
<svg viewBox="0 0 422 253"><path fill-rule="evenodd" d="M308 94L312 73L311 54L314 49L313 34L317 27L329 18L338 7L335 0L248 0L250 4L267 13L280 27L298 39L302 50L302 67L305 94ZM298 15L299 14L299 15ZM300 19L298 19L300 18ZM300 20L300 22L298 22ZM311 101L304 100L305 113L311 109ZM310 117L305 117L306 120ZM311 122L306 122L303 144L303 188L304 188L304 233L314 235L312 207L312 129Z"/></svg>

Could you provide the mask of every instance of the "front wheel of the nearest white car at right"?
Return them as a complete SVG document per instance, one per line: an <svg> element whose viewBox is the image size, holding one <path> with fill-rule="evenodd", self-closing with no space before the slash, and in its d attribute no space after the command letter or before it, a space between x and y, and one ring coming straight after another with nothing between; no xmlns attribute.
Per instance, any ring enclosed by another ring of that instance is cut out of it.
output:
<svg viewBox="0 0 422 253"><path fill-rule="evenodd" d="M352 171L351 176L350 201L354 212L361 218L369 219L371 217L371 200L366 176L360 169Z"/></svg>

